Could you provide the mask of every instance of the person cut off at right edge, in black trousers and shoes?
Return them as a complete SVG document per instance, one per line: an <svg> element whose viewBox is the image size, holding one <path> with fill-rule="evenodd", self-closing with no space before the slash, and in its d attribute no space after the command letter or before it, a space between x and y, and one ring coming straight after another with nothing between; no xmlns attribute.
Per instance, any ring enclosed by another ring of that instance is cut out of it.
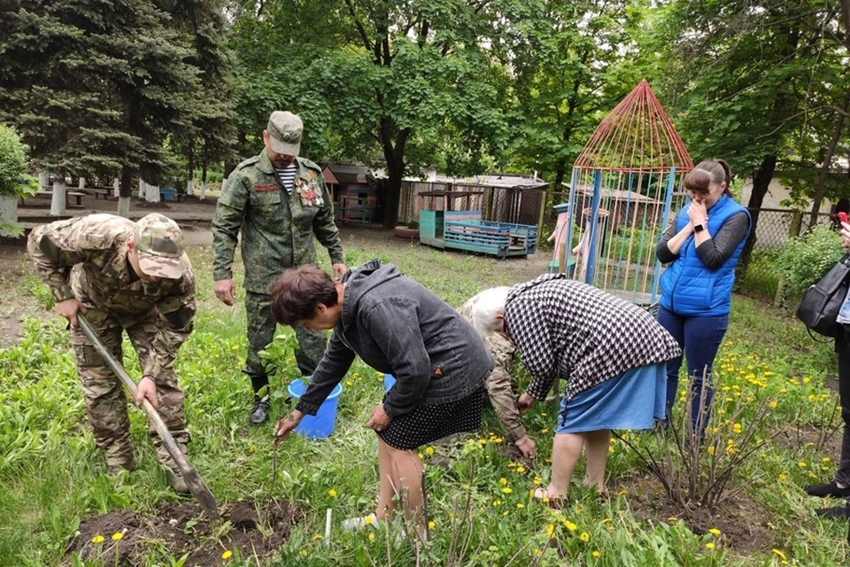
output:
<svg viewBox="0 0 850 567"><path fill-rule="evenodd" d="M850 224L841 223L841 247L850 252ZM835 477L823 485L808 485L806 493L811 496L834 496L850 498L850 294L838 312L841 332L835 339L835 352L838 353L838 399L841 404L841 418L844 420L844 434L841 439L841 456ZM818 516L850 518L850 504L815 509Z"/></svg>

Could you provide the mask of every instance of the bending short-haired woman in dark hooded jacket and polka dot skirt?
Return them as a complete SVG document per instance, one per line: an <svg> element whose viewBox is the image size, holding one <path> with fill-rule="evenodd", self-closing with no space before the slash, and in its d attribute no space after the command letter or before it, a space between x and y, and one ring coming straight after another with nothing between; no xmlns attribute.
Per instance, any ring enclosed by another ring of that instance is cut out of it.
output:
<svg viewBox="0 0 850 567"><path fill-rule="evenodd" d="M380 486L375 514L344 522L346 529L391 520L396 498L405 516L422 521L422 462L417 447L481 423L484 381L493 361L472 324L391 264L372 260L340 282L315 266L286 272L272 285L272 313L284 325L333 334L310 385L277 442L315 415L355 355L396 383L366 426L378 438Z"/></svg>

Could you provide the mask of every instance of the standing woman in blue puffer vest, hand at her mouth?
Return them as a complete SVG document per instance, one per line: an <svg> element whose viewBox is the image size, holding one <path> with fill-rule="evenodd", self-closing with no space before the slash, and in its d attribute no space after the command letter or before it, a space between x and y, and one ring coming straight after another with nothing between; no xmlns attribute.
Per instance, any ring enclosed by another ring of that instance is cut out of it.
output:
<svg viewBox="0 0 850 567"><path fill-rule="evenodd" d="M729 183L730 168L723 159L694 167L684 178L692 201L655 250L658 260L668 264L661 274L658 322L684 348L692 380L692 431L704 431L708 423L711 370L729 327L735 265L750 233L750 214L732 198ZM668 363L668 410L676 401L681 367L681 356Z"/></svg>

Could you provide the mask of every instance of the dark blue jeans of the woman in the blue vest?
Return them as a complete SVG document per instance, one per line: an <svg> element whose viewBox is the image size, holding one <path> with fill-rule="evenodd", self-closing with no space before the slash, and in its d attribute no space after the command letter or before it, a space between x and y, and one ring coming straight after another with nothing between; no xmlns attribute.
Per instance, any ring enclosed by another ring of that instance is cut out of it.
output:
<svg viewBox="0 0 850 567"><path fill-rule="evenodd" d="M711 369L715 363L717 350L723 342L723 335L729 327L729 315L710 317L692 317L676 315L664 307L659 307L658 322L670 333L684 351L688 361L688 376L693 378L691 390L691 423L694 429L698 426L699 408L705 409L702 428L708 423L711 401L715 390L711 384ZM667 415L676 402L676 389L679 385L679 369L682 368L682 357L677 356L667 363ZM850 377L850 374L848 374ZM702 398L703 382L706 382L706 397Z"/></svg>

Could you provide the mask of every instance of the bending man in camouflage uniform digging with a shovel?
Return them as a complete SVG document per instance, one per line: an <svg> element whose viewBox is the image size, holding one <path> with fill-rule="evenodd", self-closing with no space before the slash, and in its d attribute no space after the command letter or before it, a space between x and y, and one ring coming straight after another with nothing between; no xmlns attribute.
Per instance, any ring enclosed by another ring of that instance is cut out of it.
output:
<svg viewBox="0 0 850 567"><path fill-rule="evenodd" d="M89 423L110 474L133 468L127 401L118 377L77 327L78 313L86 315L118 361L123 358L122 330L127 330L143 373L135 403L151 401L185 449L189 431L183 423L183 392L174 357L192 330L195 276L178 226L156 213L136 223L112 214L89 214L36 228L27 250L50 286L56 312L71 322L71 346ZM188 492L158 434L150 431L169 482L177 492Z"/></svg>

